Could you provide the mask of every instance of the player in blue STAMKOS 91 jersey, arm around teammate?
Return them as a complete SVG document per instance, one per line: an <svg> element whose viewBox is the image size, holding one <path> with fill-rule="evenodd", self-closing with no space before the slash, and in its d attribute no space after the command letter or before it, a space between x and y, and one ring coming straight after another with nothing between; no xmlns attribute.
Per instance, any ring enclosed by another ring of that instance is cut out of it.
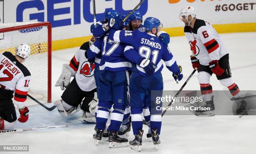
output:
<svg viewBox="0 0 256 154"><path fill-rule="evenodd" d="M182 69L180 66L178 67L168 46L156 37L161 27L158 19L148 17L144 21L144 27L134 31L120 30L123 27L122 22L115 19L110 20L109 26L112 28L109 33L110 40L130 44L131 46L125 48L125 57L137 64L132 68L129 85L132 127L135 135L135 139L130 141L130 144L133 149L140 150L143 134L141 115L143 101L145 95L151 93L151 90L163 90L162 60L166 63L166 67L173 72L172 76L175 80L182 79ZM136 56L136 53L139 53L140 56ZM151 66L155 66L155 70ZM161 96L161 93L158 95ZM151 105L149 104L149 106ZM154 110L152 112L152 108L151 131L153 143L160 144L161 111Z"/></svg>

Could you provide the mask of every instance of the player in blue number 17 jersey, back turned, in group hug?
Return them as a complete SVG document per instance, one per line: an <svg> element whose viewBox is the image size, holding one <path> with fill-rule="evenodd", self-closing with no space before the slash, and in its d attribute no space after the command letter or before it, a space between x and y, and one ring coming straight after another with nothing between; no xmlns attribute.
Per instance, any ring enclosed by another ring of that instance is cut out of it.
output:
<svg viewBox="0 0 256 154"><path fill-rule="evenodd" d="M117 18L122 20L121 15ZM128 22L125 23L125 25ZM128 105L128 71L131 70L131 62L124 56L125 43L114 42L108 38L108 33L101 36L87 51L87 57L94 59L98 53L102 54L100 62L100 88L99 109L96 117L96 134L94 139L101 140L106 127L110 108L109 147L125 147L128 140L119 137L117 132L123 121L123 113Z"/></svg>

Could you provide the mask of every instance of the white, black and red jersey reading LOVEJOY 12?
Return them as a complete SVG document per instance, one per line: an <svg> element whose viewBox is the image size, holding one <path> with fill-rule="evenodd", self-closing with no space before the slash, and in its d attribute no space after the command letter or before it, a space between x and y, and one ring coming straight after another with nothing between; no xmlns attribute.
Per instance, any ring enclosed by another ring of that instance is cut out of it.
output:
<svg viewBox="0 0 256 154"><path fill-rule="evenodd" d="M15 91L14 102L18 108L25 107L30 77L28 69L11 52L0 54L0 86Z"/></svg>

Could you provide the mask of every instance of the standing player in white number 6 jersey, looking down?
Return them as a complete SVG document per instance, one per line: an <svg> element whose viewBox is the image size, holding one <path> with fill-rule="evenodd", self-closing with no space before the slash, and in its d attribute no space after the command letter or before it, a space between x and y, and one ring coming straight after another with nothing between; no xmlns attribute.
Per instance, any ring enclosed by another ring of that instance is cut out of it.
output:
<svg viewBox="0 0 256 154"><path fill-rule="evenodd" d="M199 71L197 76L205 106L213 112L198 111L200 115L215 115L210 77L214 73L224 87L228 87L233 97L240 97L240 90L231 77L229 54L223 40L216 30L205 20L196 18L192 6L184 7L180 11L180 20L185 24L184 33L192 51L192 67ZM245 111L247 103L242 100L237 102L236 114Z"/></svg>

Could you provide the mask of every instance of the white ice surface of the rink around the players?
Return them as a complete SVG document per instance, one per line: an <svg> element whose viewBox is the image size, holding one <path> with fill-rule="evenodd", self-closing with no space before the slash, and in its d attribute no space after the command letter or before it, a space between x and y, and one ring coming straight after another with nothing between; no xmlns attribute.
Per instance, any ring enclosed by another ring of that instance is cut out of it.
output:
<svg viewBox="0 0 256 154"><path fill-rule="evenodd" d="M232 76L241 90L255 90L256 32L222 34L224 43L230 53ZM184 79L179 84L174 82L172 73L162 71L165 90L178 90L192 72L190 50L186 38L172 37L169 45L178 65L182 65ZM69 63L76 48L52 53L52 100L60 99L60 87L54 87L63 63ZM214 90L222 90L220 82L213 76L211 84ZM200 90L197 73L191 78L184 90ZM44 100L41 100L44 101ZM28 100L28 104L31 104ZM33 104L33 103L32 103ZM46 104L52 106L53 104ZM92 134L94 124L77 120L82 116L78 112L69 119L62 119L56 109L49 112L41 106L29 107L29 120L17 122L17 128L31 128L67 124L68 127L45 129L28 132L0 134L0 145L29 145L31 154L126 154L138 153L130 147L109 149L108 142L101 141L96 147ZM19 114L17 114L17 117ZM156 154L255 154L256 123L255 116L164 116L161 130L161 144L158 151L146 138L144 127L141 153ZM132 132L129 140L133 139ZM5 153L5 152L1 152ZM7 152L6 152L7 153ZM8 152L16 154L17 152ZM23 152L25 153L25 152Z"/></svg>

